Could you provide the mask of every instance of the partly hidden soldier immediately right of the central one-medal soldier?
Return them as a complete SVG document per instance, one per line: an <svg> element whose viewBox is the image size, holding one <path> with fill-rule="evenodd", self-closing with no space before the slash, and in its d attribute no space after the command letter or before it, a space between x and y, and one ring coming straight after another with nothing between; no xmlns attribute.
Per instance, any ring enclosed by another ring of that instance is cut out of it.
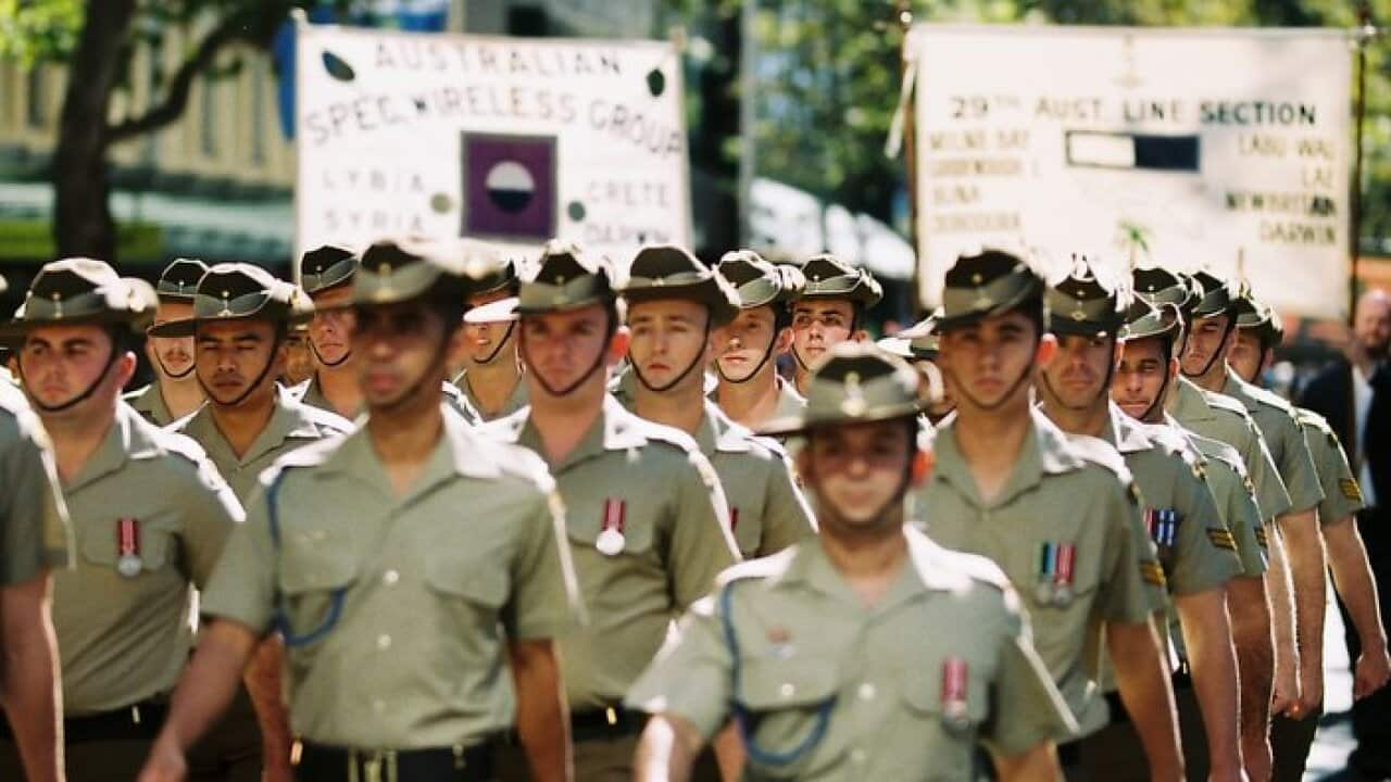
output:
<svg viewBox="0 0 1391 782"><path fill-rule="evenodd" d="M711 331L739 312L730 285L689 252L655 245L633 259L622 296L637 380L632 410L696 438L725 488L739 552L766 557L811 534L811 511L782 448L705 398L700 369L709 363Z"/></svg>

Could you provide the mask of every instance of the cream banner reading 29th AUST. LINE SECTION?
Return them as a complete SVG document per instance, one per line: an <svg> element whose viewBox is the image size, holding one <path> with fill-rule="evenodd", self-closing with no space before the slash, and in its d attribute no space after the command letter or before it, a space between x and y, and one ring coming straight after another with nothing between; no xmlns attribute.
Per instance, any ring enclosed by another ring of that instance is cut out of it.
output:
<svg viewBox="0 0 1391 782"><path fill-rule="evenodd" d="M1334 29L912 29L921 296L981 246L1237 271L1342 317L1349 38Z"/></svg>

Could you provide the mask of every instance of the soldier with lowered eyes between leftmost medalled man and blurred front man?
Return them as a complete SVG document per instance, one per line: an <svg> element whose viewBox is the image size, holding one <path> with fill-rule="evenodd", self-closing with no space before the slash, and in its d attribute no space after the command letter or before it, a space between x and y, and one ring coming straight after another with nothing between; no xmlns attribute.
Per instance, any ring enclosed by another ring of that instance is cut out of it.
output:
<svg viewBox="0 0 1391 782"><path fill-rule="evenodd" d="M209 404L175 430L203 447L242 504L275 459L351 429L346 420L294 399L275 383L285 362L285 333L310 313L313 305L289 282L256 266L220 263L199 280L188 319L150 328L152 337L195 340L198 381ZM246 686L236 690L227 715L192 753L195 778L217 776L214 769L225 768L239 779L255 775L262 764L288 775L282 657L274 637L259 648Z"/></svg>

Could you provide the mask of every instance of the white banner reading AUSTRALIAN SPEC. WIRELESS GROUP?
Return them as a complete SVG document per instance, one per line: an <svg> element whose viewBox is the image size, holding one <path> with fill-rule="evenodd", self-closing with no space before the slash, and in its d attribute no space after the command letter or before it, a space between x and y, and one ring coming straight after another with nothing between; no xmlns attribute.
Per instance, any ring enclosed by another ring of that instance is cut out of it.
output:
<svg viewBox="0 0 1391 782"><path fill-rule="evenodd" d="M690 244L680 57L666 42L300 26L296 244L580 242L626 267Z"/></svg>

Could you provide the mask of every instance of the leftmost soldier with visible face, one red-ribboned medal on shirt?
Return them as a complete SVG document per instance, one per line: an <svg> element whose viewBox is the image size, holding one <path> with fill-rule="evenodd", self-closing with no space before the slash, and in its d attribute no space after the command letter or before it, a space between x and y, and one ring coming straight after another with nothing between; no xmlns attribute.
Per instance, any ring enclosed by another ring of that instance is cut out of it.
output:
<svg viewBox="0 0 1391 782"><path fill-rule="evenodd" d="M22 334L25 392L72 518L77 566L56 573L53 596L71 781L135 776L188 661L189 589L207 583L242 518L193 441L120 401L132 331L154 308L147 284L67 259L39 271L6 327Z"/></svg>

